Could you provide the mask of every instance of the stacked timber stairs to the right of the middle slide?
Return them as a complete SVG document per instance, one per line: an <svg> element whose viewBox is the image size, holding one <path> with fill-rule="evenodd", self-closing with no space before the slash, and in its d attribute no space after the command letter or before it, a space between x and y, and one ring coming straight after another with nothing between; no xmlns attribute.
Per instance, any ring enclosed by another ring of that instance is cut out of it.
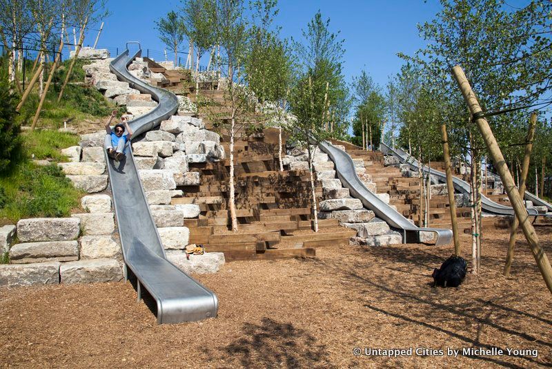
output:
<svg viewBox="0 0 552 369"><path fill-rule="evenodd" d="M378 193L389 194L389 204L395 206L404 217L413 220L415 225L420 225L420 179L417 177L403 177L400 168L393 165L385 165L385 157L380 151L366 151L353 144L344 144L335 141L335 144L346 146L346 151L353 159L363 159L366 173L371 174L376 183ZM442 163L435 164L434 169L442 170ZM433 167L433 163L432 163ZM438 168L437 168L438 167ZM489 195L494 201L503 203L505 195ZM506 198L507 199L507 198ZM427 227L451 229L451 212L449 209L448 195L432 195L428 212ZM469 237L471 234L471 219L469 205L456 208L457 225L461 234ZM502 229L509 227L507 217L484 217L482 225L484 229Z"/></svg>

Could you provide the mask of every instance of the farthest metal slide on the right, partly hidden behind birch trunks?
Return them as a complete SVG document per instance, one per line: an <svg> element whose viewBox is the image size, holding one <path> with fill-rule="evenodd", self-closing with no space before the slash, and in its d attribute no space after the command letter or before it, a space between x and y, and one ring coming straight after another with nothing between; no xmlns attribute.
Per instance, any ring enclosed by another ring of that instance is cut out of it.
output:
<svg viewBox="0 0 552 369"><path fill-rule="evenodd" d="M391 147L387 146L383 142L380 143L380 150L382 150L382 153L386 155L395 156L395 158L398 158L400 162L404 164L408 164L408 166L410 166L411 169L415 171L418 170L418 167L419 167L418 161L415 160L415 158L413 158L411 155L406 153L406 151L398 147L396 149L391 149ZM446 183L446 174L443 173L442 171L430 169L430 173L432 176L439 178L441 182ZM460 193L464 193L466 195L471 194L471 189L468 182L465 182L464 180L461 180L460 178L456 178L453 176L453 185L456 191L459 191ZM487 198L486 196L483 196L483 195L481 196L481 207L484 211L487 211L492 214L497 214L502 216L514 215L513 208L497 204L490 198ZM529 214L530 216L536 216L538 215L538 211L535 209L527 209L527 214Z"/></svg>

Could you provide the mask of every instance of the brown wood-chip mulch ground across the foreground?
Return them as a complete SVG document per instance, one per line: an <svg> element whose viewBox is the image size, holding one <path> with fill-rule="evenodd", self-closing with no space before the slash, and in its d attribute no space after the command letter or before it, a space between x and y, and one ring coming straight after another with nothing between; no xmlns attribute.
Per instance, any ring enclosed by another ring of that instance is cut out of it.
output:
<svg viewBox="0 0 552 369"><path fill-rule="evenodd" d="M552 227L538 234L552 256ZM450 246L335 247L317 249L316 258L228 263L197 276L219 298L217 319L178 325L157 325L130 283L3 289L0 365L551 366L552 296L524 242L512 277L502 276L507 238L488 232L482 272L458 289L431 287ZM467 238L463 248L469 255ZM462 353L469 348L496 349Z"/></svg>

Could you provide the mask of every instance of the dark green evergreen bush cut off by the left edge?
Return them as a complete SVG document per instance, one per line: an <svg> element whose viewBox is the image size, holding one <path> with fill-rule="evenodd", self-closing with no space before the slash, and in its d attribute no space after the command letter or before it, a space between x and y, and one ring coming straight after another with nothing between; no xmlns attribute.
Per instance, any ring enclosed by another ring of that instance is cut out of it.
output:
<svg viewBox="0 0 552 369"><path fill-rule="evenodd" d="M0 74L0 173L5 170L17 147L21 144L19 124L15 115L17 102L10 92L10 84L5 73Z"/></svg>

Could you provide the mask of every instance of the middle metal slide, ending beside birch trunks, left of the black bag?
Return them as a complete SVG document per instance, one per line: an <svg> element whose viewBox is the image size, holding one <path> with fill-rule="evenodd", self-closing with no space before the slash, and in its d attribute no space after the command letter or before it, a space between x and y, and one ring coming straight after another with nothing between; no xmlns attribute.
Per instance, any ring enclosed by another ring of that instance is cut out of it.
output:
<svg viewBox="0 0 552 369"><path fill-rule="evenodd" d="M348 153L338 149L329 142L322 142L318 146L333 160L337 177L339 177L344 187L351 191L351 195L358 198L364 207L372 210L378 218L385 220L388 225L395 229L400 229L404 243L419 243L420 231L433 232L437 236L435 245L448 245L451 243L453 238L453 231L451 229L416 227L408 219L404 218L402 214L375 196L358 178L355 164Z"/></svg>

